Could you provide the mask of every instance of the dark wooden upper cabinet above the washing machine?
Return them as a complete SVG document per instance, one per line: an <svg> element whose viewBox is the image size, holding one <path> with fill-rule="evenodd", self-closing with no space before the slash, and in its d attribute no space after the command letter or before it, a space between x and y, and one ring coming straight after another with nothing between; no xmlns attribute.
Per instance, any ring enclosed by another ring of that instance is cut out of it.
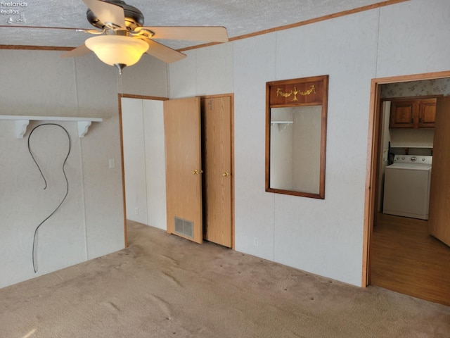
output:
<svg viewBox="0 0 450 338"><path fill-rule="evenodd" d="M435 127L436 99L392 101L391 128Z"/></svg>

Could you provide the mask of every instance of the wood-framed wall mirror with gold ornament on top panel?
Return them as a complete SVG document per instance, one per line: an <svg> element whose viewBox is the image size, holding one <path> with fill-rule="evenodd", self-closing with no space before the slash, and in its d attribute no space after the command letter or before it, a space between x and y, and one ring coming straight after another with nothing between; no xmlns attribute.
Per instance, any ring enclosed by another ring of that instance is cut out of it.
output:
<svg viewBox="0 0 450 338"><path fill-rule="evenodd" d="M328 75L266 83L266 192L325 199Z"/></svg>

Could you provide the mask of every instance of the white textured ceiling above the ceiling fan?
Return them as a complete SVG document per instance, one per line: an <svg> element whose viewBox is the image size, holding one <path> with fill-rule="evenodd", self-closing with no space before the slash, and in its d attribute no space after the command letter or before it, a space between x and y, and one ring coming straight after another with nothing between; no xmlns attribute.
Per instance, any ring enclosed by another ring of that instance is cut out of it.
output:
<svg viewBox="0 0 450 338"><path fill-rule="evenodd" d="M20 2L13 3L13 1ZM126 0L125 2L141 10L145 18L144 25L224 26L231 38L385 1ZM26 6L11 6L17 4ZM93 28L86 20L87 7L82 0L4 0L0 1L0 5L0 44L3 45L75 47L83 44L90 35L76 32L74 29ZM173 40L162 43L174 49L199 44Z"/></svg>

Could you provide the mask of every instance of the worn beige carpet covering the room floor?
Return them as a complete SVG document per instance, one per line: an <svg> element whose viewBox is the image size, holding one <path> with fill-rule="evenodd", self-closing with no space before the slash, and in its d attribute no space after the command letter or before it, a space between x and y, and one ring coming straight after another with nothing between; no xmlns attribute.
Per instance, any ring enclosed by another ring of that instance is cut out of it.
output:
<svg viewBox="0 0 450 338"><path fill-rule="evenodd" d="M129 248L0 289L0 337L450 337L450 307L129 224Z"/></svg>

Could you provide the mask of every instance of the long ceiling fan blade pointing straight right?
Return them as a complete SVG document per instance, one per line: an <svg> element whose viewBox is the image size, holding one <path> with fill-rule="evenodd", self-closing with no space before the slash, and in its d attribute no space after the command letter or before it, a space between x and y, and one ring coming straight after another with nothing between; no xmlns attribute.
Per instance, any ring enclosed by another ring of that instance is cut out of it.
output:
<svg viewBox="0 0 450 338"><path fill-rule="evenodd" d="M137 27L139 30L151 30L152 39L174 39L189 41L227 42L225 27L219 26L169 26L169 27Z"/></svg>

